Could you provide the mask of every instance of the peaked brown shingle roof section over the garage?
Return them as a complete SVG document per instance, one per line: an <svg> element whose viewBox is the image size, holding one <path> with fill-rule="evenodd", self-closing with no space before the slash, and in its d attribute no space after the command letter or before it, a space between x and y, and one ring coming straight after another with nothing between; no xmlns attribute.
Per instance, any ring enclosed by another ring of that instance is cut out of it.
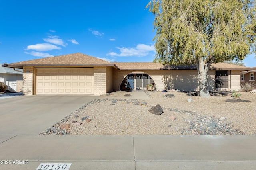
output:
<svg viewBox="0 0 256 170"><path fill-rule="evenodd" d="M17 63L6 64L7 66L57 66L57 65L110 65L114 63L98 59L82 53L60 55L55 57L46 57L42 59L21 61Z"/></svg>

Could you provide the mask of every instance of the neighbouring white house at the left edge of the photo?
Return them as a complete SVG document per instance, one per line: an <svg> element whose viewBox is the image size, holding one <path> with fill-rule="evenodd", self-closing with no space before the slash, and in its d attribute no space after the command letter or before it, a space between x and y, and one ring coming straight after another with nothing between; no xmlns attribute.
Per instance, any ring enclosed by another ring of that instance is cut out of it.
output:
<svg viewBox="0 0 256 170"><path fill-rule="evenodd" d="M23 70L20 68L8 68L0 64L0 82L6 84L6 89L11 92L21 92L22 72Z"/></svg>

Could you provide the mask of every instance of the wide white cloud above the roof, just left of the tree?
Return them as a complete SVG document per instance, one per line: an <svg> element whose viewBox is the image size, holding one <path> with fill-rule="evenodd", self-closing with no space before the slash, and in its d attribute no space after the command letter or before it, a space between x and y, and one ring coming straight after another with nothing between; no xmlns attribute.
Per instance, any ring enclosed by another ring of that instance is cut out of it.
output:
<svg viewBox="0 0 256 170"><path fill-rule="evenodd" d="M136 56L136 57L143 57L150 53L155 53L155 46L154 45L145 45L145 44L138 44L135 48L131 47L116 47L120 50L120 54L115 52L110 52L107 55L110 56L120 56L120 57L128 57L128 56Z"/></svg>

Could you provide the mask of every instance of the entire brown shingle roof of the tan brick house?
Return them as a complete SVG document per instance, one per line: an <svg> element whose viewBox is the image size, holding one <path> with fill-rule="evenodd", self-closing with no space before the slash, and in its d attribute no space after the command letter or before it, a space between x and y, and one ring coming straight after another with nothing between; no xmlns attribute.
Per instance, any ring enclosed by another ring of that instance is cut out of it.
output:
<svg viewBox="0 0 256 170"><path fill-rule="evenodd" d="M47 57L42 59L21 61L17 63L5 64L9 67L22 68L23 66L82 66L82 65L104 65L115 66L120 70L194 70L192 66L163 66L160 63L152 62L108 62L96 57L85 55L82 53L74 53L68 55L60 55L55 57ZM211 70L250 70L252 68L238 66L227 63L213 63Z"/></svg>

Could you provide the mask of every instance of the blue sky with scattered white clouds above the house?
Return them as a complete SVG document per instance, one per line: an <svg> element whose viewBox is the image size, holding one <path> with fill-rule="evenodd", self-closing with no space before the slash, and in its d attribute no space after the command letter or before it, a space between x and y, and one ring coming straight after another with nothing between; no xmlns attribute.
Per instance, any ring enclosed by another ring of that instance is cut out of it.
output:
<svg viewBox="0 0 256 170"><path fill-rule="evenodd" d="M5 0L0 3L0 63L84 53L117 62L154 59L149 0ZM246 66L255 67L250 55Z"/></svg>

